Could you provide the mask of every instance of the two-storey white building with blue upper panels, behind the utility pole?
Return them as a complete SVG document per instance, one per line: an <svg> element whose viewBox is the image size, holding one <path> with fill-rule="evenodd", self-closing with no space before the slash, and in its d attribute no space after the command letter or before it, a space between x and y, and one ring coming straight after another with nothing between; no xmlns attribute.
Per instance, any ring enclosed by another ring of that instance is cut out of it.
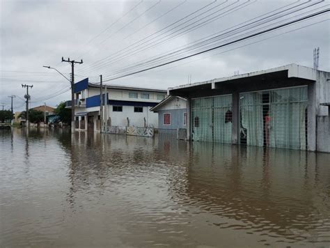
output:
<svg viewBox="0 0 330 248"><path fill-rule="evenodd" d="M166 98L166 90L103 86L104 123L120 127L158 127L158 116L150 109ZM77 130L100 131L100 85L88 79L74 84ZM71 106L71 101L67 102Z"/></svg>

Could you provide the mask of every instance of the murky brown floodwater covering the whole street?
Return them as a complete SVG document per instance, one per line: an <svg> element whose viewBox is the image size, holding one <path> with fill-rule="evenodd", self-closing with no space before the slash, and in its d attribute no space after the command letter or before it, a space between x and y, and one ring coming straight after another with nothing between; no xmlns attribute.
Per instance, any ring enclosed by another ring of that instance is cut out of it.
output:
<svg viewBox="0 0 330 248"><path fill-rule="evenodd" d="M330 154L0 131L0 247L330 247Z"/></svg>

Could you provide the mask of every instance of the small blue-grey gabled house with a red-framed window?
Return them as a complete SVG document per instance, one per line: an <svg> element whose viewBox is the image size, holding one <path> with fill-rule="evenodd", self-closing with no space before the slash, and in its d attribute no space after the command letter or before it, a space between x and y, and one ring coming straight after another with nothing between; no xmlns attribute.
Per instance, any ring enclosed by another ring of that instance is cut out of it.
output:
<svg viewBox="0 0 330 248"><path fill-rule="evenodd" d="M168 96L150 111L158 113L159 132L187 128L187 100L184 98Z"/></svg>

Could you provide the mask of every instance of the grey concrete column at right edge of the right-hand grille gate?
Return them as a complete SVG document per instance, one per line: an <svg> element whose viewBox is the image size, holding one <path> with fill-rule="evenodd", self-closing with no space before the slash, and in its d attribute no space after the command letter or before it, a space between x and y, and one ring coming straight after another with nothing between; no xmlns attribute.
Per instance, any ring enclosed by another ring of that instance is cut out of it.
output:
<svg viewBox="0 0 330 248"><path fill-rule="evenodd" d="M307 150L316 150L316 83L308 84Z"/></svg>

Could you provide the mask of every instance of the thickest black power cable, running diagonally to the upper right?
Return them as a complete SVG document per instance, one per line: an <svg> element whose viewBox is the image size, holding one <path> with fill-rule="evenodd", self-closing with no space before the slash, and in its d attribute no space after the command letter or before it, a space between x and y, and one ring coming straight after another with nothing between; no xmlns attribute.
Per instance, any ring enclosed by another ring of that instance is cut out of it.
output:
<svg viewBox="0 0 330 248"><path fill-rule="evenodd" d="M175 62L177 62L177 61L181 61L181 60L183 60L183 59L188 59L188 58L190 58L190 57L192 57L192 56L196 56L196 55L198 55L198 54L203 54L203 53L205 53L205 52L210 52L210 51L212 51L212 50L214 50L214 49L219 49L219 48L221 48L221 47L225 47L225 46L227 46L227 45L231 45L231 44L234 44L234 43L239 42L239 41L242 41L242 40L246 40L246 39L249 39L249 38L253 38L253 37L256 37L256 36L260 36L260 35L263 34L263 33L268 33L268 32L270 32L270 31L274 31L274 30L276 30L276 29L280 29L280 28L282 28L282 27L284 27L284 26L288 26L289 24L294 24L294 23L297 23L297 22L301 22L301 21L303 21L303 20L307 20L307 19L309 19L309 18L311 18L311 17L315 17L315 16L317 16L317 15L322 15L322 14L327 13L327 12L329 12L329 11L330 11L330 9L328 8L327 10L322 10L322 11L319 11L319 12L317 12L317 13L313 13L313 14L311 14L311 15L308 15L308 16L305 16L305 17L301 17L301 18L299 18L299 19L297 19L297 20L293 20L293 21L291 21L291 22L287 22L287 23L285 23L285 24L280 24L280 25L278 25L278 26L274 26L274 27L272 27L272 28L270 28L270 29L266 29L266 30L264 30L264 31L259 31L259 32L257 32L257 33L253 33L253 34L251 34L251 35L249 35L249 36L246 36L246 37L244 37L244 38L239 38L239 39L237 39L237 40L233 40L233 41L231 41L231 42L227 42L226 44L223 44L223 45L218 45L218 46L216 46L216 47L212 47L212 48L210 48L210 49L205 49L205 50L203 50L203 51L201 51L201 52L197 52L197 53L191 54L191 55L189 55L189 56L184 56L184 57L182 57L182 58L180 58L180 59L175 59L175 60L173 60L173 61L168 61L168 62L166 62L166 63L162 63L162 64L159 64L159 65L155 65L155 66L152 66L152 67L150 67L150 68L146 68L146 69L139 70L139 71L136 71L136 72L131 72L131 73L129 73L129 74L126 74L126 75L123 75L123 76L120 76L120 77L114 77L114 78L111 78L111 79L107 79L107 80L104 80L104 82L109 82L109 81L112 81L112 80L114 80L114 79L119 79L119 78L122 78L122 77L127 77L127 76L129 76L129 75L134 75L134 74L137 74L137 73L140 73L140 72L144 72L144 71L147 71L147 70L152 70L152 69L154 69L154 68L158 68L158 67L161 67L161 66L164 66L164 65L168 65L168 64L170 64L170 63L175 63Z"/></svg>

